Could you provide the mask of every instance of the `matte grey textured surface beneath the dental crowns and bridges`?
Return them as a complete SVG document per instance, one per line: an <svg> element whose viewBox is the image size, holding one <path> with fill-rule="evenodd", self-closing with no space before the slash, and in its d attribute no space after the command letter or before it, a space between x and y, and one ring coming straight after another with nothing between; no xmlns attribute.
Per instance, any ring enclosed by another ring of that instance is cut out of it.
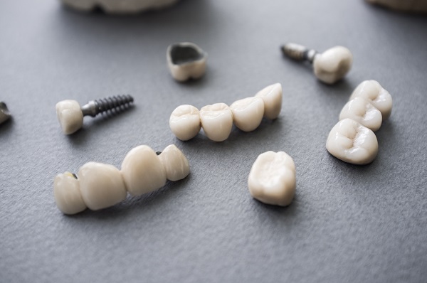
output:
<svg viewBox="0 0 427 283"><path fill-rule="evenodd" d="M426 282L427 18L364 1L184 0L139 16L80 14L57 1L0 2L0 282ZM170 43L209 53L206 76L168 73ZM282 57L294 41L347 46L354 65L334 86ZM367 166L325 141L354 87L378 80L394 98ZM226 142L180 142L169 115L283 85L279 119ZM135 107L85 119L66 137L56 102L130 93ZM53 178L88 161L120 168L139 144L176 144L191 174L115 207L65 216ZM288 208L248 193L258 154L297 168Z"/></svg>

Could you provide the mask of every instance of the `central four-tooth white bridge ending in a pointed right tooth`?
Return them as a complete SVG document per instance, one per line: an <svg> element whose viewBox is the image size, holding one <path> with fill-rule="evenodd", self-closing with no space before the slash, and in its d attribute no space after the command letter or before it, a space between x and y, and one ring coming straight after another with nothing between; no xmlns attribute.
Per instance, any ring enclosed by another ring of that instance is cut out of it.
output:
<svg viewBox="0 0 427 283"><path fill-rule="evenodd" d="M196 137L201 127L206 136L214 142L223 142L233 127L243 132L251 132L263 117L276 119L282 109L282 85L275 83L260 90L254 97L246 97L233 102L206 105L199 111L192 105L180 105L169 118L169 127L178 139L187 141Z"/></svg>

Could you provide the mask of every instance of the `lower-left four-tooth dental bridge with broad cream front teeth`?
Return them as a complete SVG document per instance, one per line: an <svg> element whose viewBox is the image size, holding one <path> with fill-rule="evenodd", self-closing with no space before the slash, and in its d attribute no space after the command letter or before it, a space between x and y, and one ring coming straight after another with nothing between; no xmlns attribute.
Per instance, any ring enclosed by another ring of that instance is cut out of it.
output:
<svg viewBox="0 0 427 283"><path fill-rule="evenodd" d="M189 161L173 144L159 156L149 146L137 146L126 155L119 171L115 166L88 162L78 176L65 172L53 182L53 195L59 210L79 213L86 208L99 210L133 196L164 186L166 180L178 181L189 174Z"/></svg>

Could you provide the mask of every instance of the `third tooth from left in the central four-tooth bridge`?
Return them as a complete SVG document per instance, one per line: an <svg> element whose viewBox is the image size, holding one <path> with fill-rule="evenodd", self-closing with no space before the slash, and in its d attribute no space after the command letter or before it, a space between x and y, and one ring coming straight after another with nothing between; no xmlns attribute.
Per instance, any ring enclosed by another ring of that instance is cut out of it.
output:
<svg viewBox="0 0 427 283"><path fill-rule="evenodd" d="M264 115L264 102L260 97L248 97L230 105L236 127L244 132L258 128Z"/></svg>

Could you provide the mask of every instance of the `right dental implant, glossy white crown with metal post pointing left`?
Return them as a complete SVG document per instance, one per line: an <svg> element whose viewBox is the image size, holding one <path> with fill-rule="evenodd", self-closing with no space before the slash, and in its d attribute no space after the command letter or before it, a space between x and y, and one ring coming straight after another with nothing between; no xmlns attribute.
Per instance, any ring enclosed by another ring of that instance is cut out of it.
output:
<svg viewBox="0 0 427 283"><path fill-rule="evenodd" d="M343 46L332 47L324 53L295 43L285 44L281 49L284 55L294 60L312 63L316 77L327 84L341 80L352 68L353 55Z"/></svg>

